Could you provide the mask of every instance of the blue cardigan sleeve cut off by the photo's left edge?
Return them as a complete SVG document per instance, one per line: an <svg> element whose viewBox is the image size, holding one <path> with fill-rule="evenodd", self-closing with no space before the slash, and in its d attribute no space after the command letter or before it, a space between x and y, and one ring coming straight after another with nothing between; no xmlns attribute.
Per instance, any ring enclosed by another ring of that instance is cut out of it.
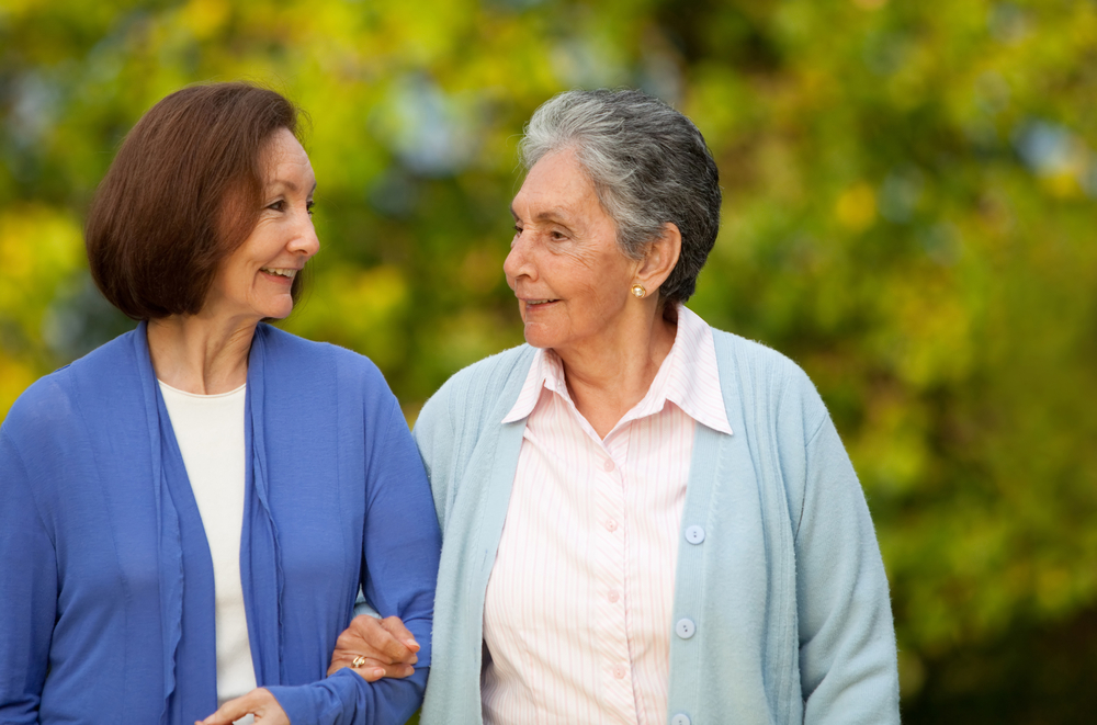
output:
<svg viewBox="0 0 1097 725"><path fill-rule="evenodd" d="M0 428L0 722L37 723L57 612L57 558L26 467Z"/></svg>

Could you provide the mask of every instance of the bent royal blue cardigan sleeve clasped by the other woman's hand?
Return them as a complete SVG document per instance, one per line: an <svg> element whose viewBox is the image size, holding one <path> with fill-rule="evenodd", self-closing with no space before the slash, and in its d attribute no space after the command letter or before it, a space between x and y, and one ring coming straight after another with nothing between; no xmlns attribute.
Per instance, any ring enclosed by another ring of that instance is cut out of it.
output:
<svg viewBox="0 0 1097 725"><path fill-rule="evenodd" d="M365 442L366 514L362 584L382 616L396 615L421 646L415 675L366 682L350 670L312 684L269 687L293 725L397 725L422 702L441 535L422 463L396 399L388 423Z"/></svg>

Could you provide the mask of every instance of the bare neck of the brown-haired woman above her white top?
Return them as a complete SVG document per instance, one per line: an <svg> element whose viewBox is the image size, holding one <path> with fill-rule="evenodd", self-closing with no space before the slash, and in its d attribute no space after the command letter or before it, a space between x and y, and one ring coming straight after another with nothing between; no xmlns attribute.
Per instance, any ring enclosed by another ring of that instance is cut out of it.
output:
<svg viewBox="0 0 1097 725"><path fill-rule="evenodd" d="M156 377L197 395L228 393L248 380L248 353L258 321L172 315L148 322Z"/></svg>

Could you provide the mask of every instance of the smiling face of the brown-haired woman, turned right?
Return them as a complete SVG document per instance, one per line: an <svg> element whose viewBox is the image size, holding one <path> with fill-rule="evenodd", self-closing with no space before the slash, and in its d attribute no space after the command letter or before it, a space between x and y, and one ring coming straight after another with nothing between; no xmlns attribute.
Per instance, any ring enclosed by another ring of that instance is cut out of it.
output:
<svg viewBox="0 0 1097 725"><path fill-rule="evenodd" d="M271 175L251 235L217 270L203 314L282 318L293 310L293 279L319 248L313 229L316 177L308 155L286 128L271 139Z"/></svg>

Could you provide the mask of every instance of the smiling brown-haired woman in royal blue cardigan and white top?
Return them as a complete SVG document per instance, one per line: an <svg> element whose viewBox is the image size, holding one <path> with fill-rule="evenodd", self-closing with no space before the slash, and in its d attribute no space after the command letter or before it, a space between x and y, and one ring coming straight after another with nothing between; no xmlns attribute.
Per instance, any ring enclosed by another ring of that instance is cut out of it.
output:
<svg viewBox="0 0 1097 725"><path fill-rule="evenodd" d="M3 723L403 723L420 702L440 539L400 408L366 359L262 324L319 247L296 133L278 93L188 88L99 189L91 271L142 321L0 428ZM406 623L395 657L423 645L410 677L324 679L360 588Z"/></svg>

